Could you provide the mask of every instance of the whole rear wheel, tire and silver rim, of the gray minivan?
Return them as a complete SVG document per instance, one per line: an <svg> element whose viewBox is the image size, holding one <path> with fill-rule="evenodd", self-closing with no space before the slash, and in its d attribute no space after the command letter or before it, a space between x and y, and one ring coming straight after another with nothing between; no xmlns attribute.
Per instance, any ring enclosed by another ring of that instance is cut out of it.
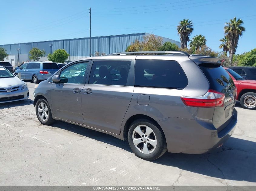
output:
<svg viewBox="0 0 256 191"><path fill-rule="evenodd" d="M135 155L155 160L167 150L164 133L150 120L135 120L128 131L128 142Z"/></svg>

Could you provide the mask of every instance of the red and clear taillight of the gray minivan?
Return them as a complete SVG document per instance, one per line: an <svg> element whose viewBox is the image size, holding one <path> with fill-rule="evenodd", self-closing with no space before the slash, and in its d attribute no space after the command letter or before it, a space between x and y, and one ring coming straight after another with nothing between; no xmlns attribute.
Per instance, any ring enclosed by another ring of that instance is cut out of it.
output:
<svg viewBox="0 0 256 191"><path fill-rule="evenodd" d="M185 105L191 107L218 107L223 104L224 99L225 94L211 89L203 96L181 96Z"/></svg>

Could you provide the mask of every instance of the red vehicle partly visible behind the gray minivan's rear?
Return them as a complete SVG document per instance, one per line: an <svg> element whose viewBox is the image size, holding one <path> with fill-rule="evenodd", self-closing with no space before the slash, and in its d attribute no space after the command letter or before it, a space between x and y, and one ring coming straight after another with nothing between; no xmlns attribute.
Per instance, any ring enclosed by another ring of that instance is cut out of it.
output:
<svg viewBox="0 0 256 191"><path fill-rule="evenodd" d="M237 98L245 109L256 109L256 80L245 80L230 68L225 68L237 87Z"/></svg>

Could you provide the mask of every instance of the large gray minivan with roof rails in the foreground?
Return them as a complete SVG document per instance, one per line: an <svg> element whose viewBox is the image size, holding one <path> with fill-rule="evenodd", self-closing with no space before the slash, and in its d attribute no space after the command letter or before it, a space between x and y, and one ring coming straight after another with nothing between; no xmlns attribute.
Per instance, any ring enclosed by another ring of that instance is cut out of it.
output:
<svg viewBox="0 0 256 191"><path fill-rule="evenodd" d="M221 147L237 123L236 87L222 60L181 51L78 59L35 88L36 116L45 125L61 120L128 140L145 160L166 150L206 153ZM81 68L85 73L73 76Z"/></svg>

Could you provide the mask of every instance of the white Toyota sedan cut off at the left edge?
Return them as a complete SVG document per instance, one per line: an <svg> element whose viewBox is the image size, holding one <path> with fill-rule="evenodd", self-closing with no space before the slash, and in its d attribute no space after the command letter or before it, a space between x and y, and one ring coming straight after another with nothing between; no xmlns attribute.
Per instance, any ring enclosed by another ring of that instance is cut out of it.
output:
<svg viewBox="0 0 256 191"><path fill-rule="evenodd" d="M0 66L0 103L29 98L27 84Z"/></svg>

